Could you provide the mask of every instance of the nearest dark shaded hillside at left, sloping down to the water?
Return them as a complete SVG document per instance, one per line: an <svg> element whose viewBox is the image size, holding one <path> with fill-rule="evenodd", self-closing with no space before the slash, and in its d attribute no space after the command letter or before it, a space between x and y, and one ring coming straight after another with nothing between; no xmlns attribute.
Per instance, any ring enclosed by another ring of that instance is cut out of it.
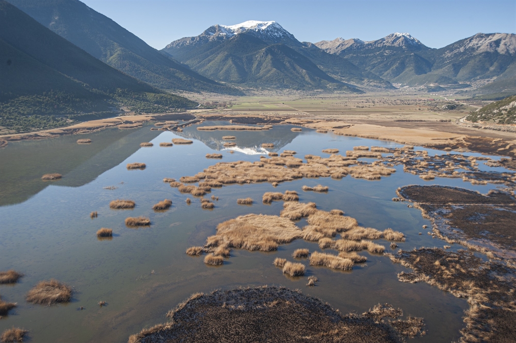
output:
<svg viewBox="0 0 516 343"><path fill-rule="evenodd" d="M114 116L120 106L159 113L197 105L120 73L5 1L0 1L0 61L4 132Z"/></svg>

